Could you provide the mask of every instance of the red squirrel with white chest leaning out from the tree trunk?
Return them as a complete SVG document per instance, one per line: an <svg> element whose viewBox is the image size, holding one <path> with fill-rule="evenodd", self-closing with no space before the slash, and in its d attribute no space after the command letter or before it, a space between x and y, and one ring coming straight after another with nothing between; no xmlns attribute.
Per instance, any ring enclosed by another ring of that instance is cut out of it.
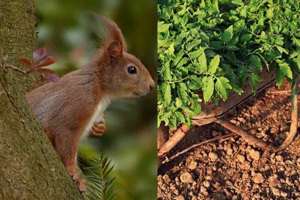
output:
<svg viewBox="0 0 300 200"><path fill-rule="evenodd" d="M87 192L84 180L75 172L80 138L88 133L104 134L103 113L112 100L141 97L155 86L142 62L127 52L116 23L101 15L94 16L107 34L91 61L58 82L46 83L26 95L80 192Z"/></svg>

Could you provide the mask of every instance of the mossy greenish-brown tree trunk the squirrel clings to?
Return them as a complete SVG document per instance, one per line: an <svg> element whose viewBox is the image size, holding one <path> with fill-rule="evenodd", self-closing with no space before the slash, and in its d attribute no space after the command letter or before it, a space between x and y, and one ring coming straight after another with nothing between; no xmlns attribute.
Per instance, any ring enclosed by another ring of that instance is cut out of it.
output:
<svg viewBox="0 0 300 200"><path fill-rule="evenodd" d="M38 49L35 25L33 0L0 1L0 56L8 55L9 64L27 70L16 58L32 59ZM0 199L84 199L26 101L36 86L0 69Z"/></svg>

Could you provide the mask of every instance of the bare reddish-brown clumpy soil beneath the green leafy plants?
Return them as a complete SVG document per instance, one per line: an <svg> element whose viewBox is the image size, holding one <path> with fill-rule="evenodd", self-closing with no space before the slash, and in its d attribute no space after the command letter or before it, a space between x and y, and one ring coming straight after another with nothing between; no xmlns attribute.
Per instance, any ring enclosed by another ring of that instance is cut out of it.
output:
<svg viewBox="0 0 300 200"><path fill-rule="evenodd" d="M232 123L279 145L289 133L290 90L286 81L256 94L226 115ZM277 124L270 127L262 127ZM289 147L270 153L249 145L240 136L209 142L161 165L158 199L300 199L300 123ZM231 133L216 123L196 126L169 157L207 139ZM172 135L172 133L170 133Z"/></svg>

